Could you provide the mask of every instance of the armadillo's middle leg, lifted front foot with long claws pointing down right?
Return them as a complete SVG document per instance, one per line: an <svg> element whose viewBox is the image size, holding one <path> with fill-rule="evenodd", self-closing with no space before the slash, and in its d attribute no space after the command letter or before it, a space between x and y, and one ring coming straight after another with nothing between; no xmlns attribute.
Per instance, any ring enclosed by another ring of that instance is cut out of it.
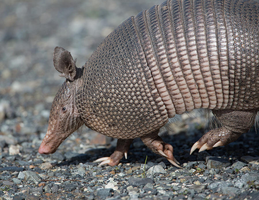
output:
<svg viewBox="0 0 259 200"><path fill-rule="evenodd" d="M170 163L176 167L182 168L176 163L180 164L173 156L173 147L171 144L165 143L159 136L159 130L141 137L142 142L151 149L154 153L165 157Z"/></svg>

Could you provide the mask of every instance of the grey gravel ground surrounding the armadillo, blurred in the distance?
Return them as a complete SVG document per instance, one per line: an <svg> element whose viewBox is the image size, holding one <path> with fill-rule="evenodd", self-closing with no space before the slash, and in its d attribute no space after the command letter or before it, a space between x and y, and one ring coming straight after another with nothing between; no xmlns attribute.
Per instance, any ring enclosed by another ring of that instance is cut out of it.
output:
<svg viewBox="0 0 259 200"><path fill-rule="evenodd" d="M199 112L179 116L160 133L183 169L138 139L127 160L99 167L93 161L111 155L116 140L86 127L56 153L37 152L64 81L53 67L54 47L68 49L80 67L123 20L161 2L1 0L0 199L259 199L256 129L190 156L204 131Z"/></svg>

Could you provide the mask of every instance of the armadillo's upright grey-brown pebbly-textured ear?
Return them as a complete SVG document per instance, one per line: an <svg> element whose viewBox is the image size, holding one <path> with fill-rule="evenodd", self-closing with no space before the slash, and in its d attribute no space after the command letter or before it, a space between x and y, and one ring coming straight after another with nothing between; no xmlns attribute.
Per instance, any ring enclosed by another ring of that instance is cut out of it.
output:
<svg viewBox="0 0 259 200"><path fill-rule="evenodd" d="M61 74L60 76L69 79L70 81L74 81L76 75L76 63L73 60L70 52L66 51L62 47L56 47L53 52L53 64L57 71Z"/></svg>

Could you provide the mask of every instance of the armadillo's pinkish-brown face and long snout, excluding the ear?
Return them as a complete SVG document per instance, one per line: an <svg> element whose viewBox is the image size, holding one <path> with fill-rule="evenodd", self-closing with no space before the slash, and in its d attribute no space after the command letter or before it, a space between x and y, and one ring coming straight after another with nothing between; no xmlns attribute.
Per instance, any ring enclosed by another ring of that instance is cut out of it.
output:
<svg viewBox="0 0 259 200"><path fill-rule="evenodd" d="M39 147L39 153L54 153L58 146L81 125L81 119L75 97L82 85L82 74L84 68L76 68L74 81L66 81L56 94L49 115L47 133Z"/></svg>

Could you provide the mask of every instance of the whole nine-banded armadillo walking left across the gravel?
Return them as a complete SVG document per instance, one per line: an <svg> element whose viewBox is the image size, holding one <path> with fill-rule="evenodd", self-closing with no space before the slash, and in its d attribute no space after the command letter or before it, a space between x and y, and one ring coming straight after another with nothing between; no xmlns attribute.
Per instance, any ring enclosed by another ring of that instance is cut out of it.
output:
<svg viewBox="0 0 259 200"><path fill-rule="evenodd" d="M101 164L116 165L133 138L177 165L158 136L168 118L209 108L222 127L191 153L247 132L259 109L259 4L248 0L172 0L132 16L104 39L82 68L56 47L66 78L54 98L39 153L54 153L81 125L113 138Z"/></svg>

